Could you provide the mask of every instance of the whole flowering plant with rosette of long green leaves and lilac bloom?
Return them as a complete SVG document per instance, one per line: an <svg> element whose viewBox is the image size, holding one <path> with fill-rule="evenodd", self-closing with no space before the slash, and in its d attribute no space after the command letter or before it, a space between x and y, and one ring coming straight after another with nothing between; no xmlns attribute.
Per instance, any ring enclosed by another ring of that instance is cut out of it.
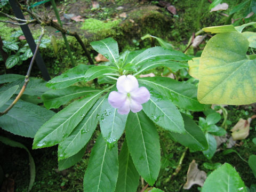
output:
<svg viewBox="0 0 256 192"><path fill-rule="evenodd" d="M53 89L43 94L47 109L80 99L60 110L38 130L34 149L58 145L59 169L67 169L83 157L99 122L101 133L84 175L84 191L93 192L136 191L139 175L150 186L154 185L161 167L157 126L193 151L208 149L204 133L186 115L208 107L197 101L197 87L168 77L138 78L142 72L156 67L172 71L187 68L190 57L157 46L119 55L117 42L112 38L91 45L109 62L78 65L47 83ZM78 83L95 78L105 89ZM117 142L123 142L119 155Z"/></svg>

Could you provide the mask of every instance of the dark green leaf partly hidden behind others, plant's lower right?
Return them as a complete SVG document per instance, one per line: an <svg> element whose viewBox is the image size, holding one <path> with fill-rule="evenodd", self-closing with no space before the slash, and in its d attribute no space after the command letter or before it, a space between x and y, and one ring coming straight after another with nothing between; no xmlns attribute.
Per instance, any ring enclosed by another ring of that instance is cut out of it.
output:
<svg viewBox="0 0 256 192"><path fill-rule="evenodd" d="M181 143L181 145L188 147L193 151L206 150L208 148L207 140L204 133L199 126L189 118L187 115L182 114L185 124L185 134L170 132L171 137Z"/></svg>

